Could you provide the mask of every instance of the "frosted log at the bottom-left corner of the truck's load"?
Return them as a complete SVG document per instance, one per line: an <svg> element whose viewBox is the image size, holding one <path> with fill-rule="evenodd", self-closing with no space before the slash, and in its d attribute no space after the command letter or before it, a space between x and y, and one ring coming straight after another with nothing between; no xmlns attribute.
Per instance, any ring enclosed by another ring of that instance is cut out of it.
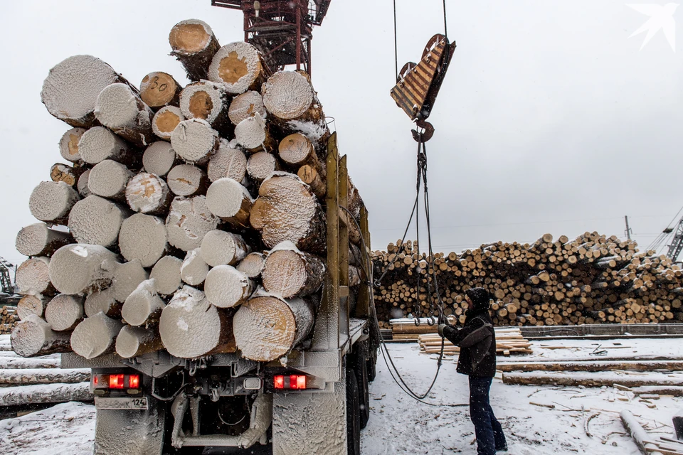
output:
<svg viewBox="0 0 683 455"><path fill-rule="evenodd" d="M71 351L68 333L57 333L40 316L31 314L12 330L12 350L22 357L68 353Z"/></svg>

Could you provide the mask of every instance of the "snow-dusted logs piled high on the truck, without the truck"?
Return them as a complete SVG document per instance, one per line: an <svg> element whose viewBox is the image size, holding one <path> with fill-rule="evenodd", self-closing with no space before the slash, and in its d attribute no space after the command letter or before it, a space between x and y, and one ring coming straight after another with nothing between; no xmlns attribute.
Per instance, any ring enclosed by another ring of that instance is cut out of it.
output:
<svg viewBox="0 0 683 455"><path fill-rule="evenodd" d="M186 87L154 72L138 89L90 55L45 80L43 103L72 127L59 141L70 164L33 191L41 223L16 238L30 257L16 272L20 355L268 362L312 332L332 135L309 76L269 74L256 48L221 47L202 21L176 24L169 42ZM361 205L351 186L356 218Z"/></svg>

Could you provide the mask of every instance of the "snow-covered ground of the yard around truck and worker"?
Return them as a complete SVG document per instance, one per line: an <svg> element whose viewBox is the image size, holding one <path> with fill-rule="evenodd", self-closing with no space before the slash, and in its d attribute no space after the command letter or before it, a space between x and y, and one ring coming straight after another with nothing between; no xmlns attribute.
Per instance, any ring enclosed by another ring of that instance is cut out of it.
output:
<svg viewBox="0 0 683 455"><path fill-rule="evenodd" d="M534 354L526 359L593 357L589 353L598 344L602 345L601 350L608 350L610 358L662 353L683 355L683 343L678 339L566 340L536 341ZM435 373L435 355L420 354L417 343L389 344L388 347L406 382L418 392L425 390ZM507 359L499 358L499 361L504 360ZM680 377L678 374L651 374ZM455 373L455 362L448 358L426 399L437 406L415 402L399 390L380 358L377 378L371 384L370 422L361 433L362 453L476 454L469 410L467 406L452 406L465 405L467 393L467 378ZM648 431L670 435L673 432L671 417L683 407L683 398L660 397L652 401L655 405L652 409L631 392L612 387L524 387L504 385L499 378L494 379L491 396L494 411L507 434L511 455L640 454L625 434L619 412L628 409ZM554 405L555 408L529 402ZM588 428L591 436L588 436L584 423L594 414L597 415L591 419ZM90 454L94 425L94 408L73 402L17 419L6 419L0 422L0 453Z"/></svg>

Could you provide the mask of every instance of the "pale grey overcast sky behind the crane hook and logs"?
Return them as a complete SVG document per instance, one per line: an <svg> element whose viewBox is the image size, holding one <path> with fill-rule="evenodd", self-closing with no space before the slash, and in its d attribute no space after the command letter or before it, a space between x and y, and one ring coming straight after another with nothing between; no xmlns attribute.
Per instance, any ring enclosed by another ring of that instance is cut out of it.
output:
<svg viewBox="0 0 683 455"><path fill-rule="evenodd" d="M647 16L618 0L446 3L457 49L430 117L435 249L624 237L624 215L647 247L683 205L683 38L674 53L659 31L640 50L645 33L629 37ZM399 67L443 33L441 5L397 0ZM48 70L87 53L135 84L157 70L187 82L168 55L171 27L202 19L229 43L243 22L210 0L2 1L0 16L0 256L16 262L16 232L36 222L28 197L62 161L69 128L41 104ZM312 80L371 213L372 247L384 249L415 197L412 125L389 96L392 1L333 0L314 30Z"/></svg>

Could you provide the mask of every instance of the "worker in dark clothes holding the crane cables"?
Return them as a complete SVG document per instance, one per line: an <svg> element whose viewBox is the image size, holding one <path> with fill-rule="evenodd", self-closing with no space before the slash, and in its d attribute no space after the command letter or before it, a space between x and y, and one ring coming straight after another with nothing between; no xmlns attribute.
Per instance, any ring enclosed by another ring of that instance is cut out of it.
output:
<svg viewBox="0 0 683 455"><path fill-rule="evenodd" d="M470 379L470 419L475 424L477 454L494 455L507 451L507 441L500 423L489 405L489 389L496 374L496 334L489 315L491 296L481 287L467 289L465 326L458 330L449 324L439 325L439 335L460 346L457 373Z"/></svg>

